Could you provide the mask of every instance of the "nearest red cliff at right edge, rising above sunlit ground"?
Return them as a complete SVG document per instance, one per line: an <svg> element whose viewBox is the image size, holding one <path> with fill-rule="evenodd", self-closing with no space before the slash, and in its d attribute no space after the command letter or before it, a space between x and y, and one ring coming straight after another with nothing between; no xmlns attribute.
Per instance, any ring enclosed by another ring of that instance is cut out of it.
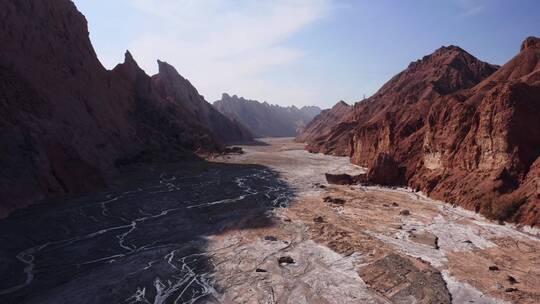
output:
<svg viewBox="0 0 540 304"><path fill-rule="evenodd" d="M490 217L540 225L540 48L470 90L436 100L410 183Z"/></svg>

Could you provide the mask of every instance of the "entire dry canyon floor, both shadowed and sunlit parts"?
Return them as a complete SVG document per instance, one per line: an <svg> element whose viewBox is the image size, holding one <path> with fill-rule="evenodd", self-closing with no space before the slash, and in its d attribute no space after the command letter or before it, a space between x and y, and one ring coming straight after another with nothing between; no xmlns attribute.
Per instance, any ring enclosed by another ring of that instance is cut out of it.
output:
<svg viewBox="0 0 540 304"><path fill-rule="evenodd" d="M0 220L0 303L540 303L534 229L263 142Z"/></svg>

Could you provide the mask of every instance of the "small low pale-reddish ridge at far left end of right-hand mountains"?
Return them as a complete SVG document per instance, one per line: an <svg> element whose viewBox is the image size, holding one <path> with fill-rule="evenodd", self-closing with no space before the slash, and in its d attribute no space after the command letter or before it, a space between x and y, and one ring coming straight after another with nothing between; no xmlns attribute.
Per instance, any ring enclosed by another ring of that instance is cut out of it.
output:
<svg viewBox="0 0 540 304"><path fill-rule="evenodd" d="M323 110L319 115L307 124L305 129L298 134L296 140L299 142L317 142L319 139L326 139L326 136L340 122L346 119L347 115L351 114L352 107L344 101L336 103L332 108ZM332 137L332 142L326 142L326 146L331 150L331 153L343 154L343 151L338 151L340 147L347 146L348 142L341 143L343 137Z"/></svg>

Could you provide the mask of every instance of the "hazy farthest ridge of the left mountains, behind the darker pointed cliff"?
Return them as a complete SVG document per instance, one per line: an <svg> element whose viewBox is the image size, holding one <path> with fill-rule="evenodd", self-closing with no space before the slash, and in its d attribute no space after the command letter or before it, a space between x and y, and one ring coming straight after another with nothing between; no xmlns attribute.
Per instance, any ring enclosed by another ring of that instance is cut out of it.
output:
<svg viewBox="0 0 540 304"><path fill-rule="evenodd" d="M220 140L241 142L253 139L246 127L217 111L173 66L161 61L158 64L159 73L152 76L152 81L163 98L183 105L192 118L208 126Z"/></svg>

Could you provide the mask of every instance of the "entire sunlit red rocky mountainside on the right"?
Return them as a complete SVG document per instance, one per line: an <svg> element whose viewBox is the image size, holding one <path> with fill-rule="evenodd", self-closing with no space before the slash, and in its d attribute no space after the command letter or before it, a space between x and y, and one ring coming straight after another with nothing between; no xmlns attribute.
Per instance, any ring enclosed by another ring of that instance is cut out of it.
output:
<svg viewBox="0 0 540 304"><path fill-rule="evenodd" d="M364 166L386 153L415 189L491 218L538 225L538 41L528 38L500 69L443 47L356 104L309 149ZM338 137L347 138L340 147L327 144Z"/></svg>

